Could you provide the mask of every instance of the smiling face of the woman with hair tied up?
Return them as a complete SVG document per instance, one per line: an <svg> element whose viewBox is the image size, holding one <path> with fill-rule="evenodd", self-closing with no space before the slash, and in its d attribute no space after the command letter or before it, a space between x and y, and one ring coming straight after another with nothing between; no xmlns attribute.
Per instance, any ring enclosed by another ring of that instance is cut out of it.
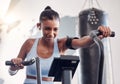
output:
<svg viewBox="0 0 120 84"><path fill-rule="evenodd" d="M58 35L59 20L45 20L41 22L41 29L43 32L43 38L45 40L54 40Z"/></svg>

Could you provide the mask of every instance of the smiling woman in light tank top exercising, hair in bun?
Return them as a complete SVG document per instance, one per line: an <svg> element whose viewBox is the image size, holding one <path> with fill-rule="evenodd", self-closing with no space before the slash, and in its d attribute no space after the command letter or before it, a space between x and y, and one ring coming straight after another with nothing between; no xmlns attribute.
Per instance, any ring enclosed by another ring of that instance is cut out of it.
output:
<svg viewBox="0 0 120 84"><path fill-rule="evenodd" d="M49 6L41 13L39 21L40 23L37 26L42 30L43 36L25 41L18 57L12 59L12 62L17 66L11 66L9 73L14 75L19 69L23 69L24 66L21 64L23 60L39 57L42 84L53 84L52 78L48 77L53 58L64 55L67 49L88 47L94 42L90 36L77 39L69 37L58 39L59 14ZM111 33L110 28L104 26L100 26L98 30L103 33L103 35L99 36L100 39L108 37ZM24 84L36 84L36 82L36 65L34 63L33 65L27 66Z"/></svg>

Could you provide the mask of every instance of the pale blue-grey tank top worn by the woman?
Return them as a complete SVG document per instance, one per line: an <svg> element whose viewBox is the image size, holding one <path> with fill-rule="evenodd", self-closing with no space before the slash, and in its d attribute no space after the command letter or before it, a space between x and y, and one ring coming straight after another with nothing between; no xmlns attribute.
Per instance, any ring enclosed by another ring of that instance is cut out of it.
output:
<svg viewBox="0 0 120 84"><path fill-rule="evenodd" d="M30 52L27 54L26 59L30 60L33 57L38 57L38 54L37 54L38 41L39 41L39 38L37 38L35 40ZM54 57L60 57L57 39L54 40L54 50L53 50L52 56L50 56L49 58L41 58L39 56L41 75L43 77L48 77L48 73L49 73L49 70L50 70L50 67L51 67L51 64L52 64ZM26 74L30 75L30 76L37 76L36 63L34 63L30 66L27 66Z"/></svg>

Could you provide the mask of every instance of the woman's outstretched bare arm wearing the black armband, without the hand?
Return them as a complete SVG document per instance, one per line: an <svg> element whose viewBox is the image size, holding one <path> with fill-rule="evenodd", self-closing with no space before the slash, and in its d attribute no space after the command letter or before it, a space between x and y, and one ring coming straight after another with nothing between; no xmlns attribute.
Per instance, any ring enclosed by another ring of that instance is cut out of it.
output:
<svg viewBox="0 0 120 84"><path fill-rule="evenodd" d="M78 49L88 47L93 44L93 40L89 36L84 36L82 38L78 37L65 37L59 41L59 51L65 52L67 49Z"/></svg>

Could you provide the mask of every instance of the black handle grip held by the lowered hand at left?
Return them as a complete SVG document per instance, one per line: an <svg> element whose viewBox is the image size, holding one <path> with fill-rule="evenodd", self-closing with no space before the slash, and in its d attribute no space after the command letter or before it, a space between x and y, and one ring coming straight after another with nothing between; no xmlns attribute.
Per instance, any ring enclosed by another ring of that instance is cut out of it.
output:
<svg viewBox="0 0 120 84"><path fill-rule="evenodd" d="M23 64L24 66L28 66L28 65L32 65L34 62L35 62L35 59L31 59L29 61L23 61L23 62L21 62L21 64ZM12 61L6 61L5 65L15 66L15 64Z"/></svg>

